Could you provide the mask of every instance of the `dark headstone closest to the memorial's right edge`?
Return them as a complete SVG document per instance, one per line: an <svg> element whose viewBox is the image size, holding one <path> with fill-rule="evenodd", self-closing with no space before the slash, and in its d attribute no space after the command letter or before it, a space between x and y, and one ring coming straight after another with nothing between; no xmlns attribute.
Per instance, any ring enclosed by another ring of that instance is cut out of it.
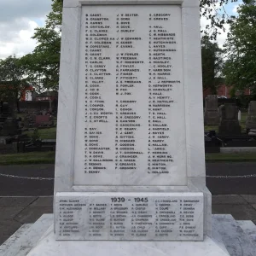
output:
<svg viewBox="0 0 256 256"><path fill-rule="evenodd" d="M205 125L219 125L218 96L208 95L206 97Z"/></svg>

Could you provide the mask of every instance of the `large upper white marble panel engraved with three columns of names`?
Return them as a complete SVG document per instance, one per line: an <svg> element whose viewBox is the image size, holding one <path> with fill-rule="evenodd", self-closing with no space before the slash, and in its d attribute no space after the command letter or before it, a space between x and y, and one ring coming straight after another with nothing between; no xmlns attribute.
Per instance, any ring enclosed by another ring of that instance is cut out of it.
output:
<svg viewBox="0 0 256 256"><path fill-rule="evenodd" d="M172 5L82 7L75 185L187 184L181 19Z"/></svg>

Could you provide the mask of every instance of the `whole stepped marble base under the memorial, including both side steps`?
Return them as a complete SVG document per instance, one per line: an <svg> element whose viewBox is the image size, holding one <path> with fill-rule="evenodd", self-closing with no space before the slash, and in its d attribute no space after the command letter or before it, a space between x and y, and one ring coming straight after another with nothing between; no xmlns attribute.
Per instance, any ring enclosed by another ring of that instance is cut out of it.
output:
<svg viewBox="0 0 256 256"><path fill-rule="evenodd" d="M231 215L212 215L205 241L55 241L53 214L26 224L0 246L1 256L254 256L256 226ZM45 231L47 228L49 229Z"/></svg>

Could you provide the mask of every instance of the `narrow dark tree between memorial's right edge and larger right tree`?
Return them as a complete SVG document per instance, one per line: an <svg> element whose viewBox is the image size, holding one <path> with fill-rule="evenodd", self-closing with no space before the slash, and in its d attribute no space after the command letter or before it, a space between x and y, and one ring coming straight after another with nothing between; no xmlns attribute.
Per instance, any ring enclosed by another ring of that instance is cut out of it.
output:
<svg viewBox="0 0 256 256"><path fill-rule="evenodd" d="M223 50L217 43L212 43L207 36L201 38L201 60L203 88L216 94L217 87L223 82L221 71L223 67Z"/></svg>

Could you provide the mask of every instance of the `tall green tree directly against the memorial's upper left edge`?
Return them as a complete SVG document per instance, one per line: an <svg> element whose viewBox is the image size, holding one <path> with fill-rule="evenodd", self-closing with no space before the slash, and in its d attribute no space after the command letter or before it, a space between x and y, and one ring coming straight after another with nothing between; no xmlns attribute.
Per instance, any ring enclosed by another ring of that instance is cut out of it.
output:
<svg viewBox="0 0 256 256"><path fill-rule="evenodd" d="M38 45L32 54L25 55L21 62L26 67L28 80L40 89L58 89L61 55L62 4L52 3L52 11L47 16L46 25L36 28L33 39Z"/></svg>

